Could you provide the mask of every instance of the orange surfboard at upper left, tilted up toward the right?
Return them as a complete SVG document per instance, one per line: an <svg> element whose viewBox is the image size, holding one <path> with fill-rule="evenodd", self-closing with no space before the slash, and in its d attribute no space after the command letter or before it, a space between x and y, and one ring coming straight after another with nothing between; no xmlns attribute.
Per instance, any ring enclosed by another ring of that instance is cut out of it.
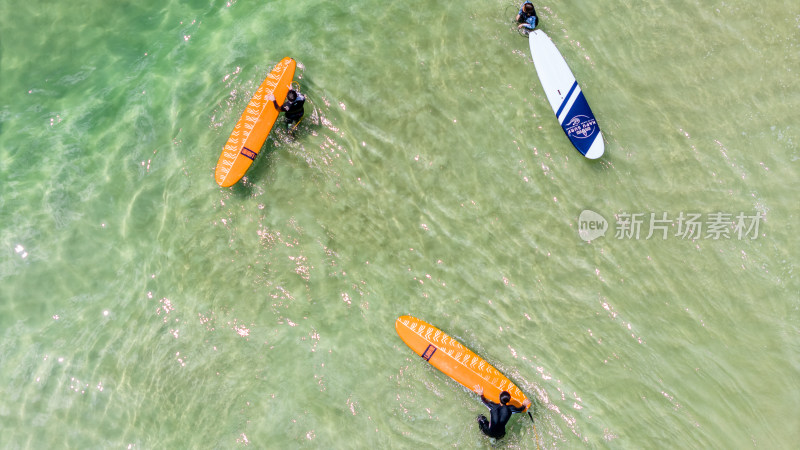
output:
<svg viewBox="0 0 800 450"><path fill-rule="evenodd" d="M217 161L214 178L220 186L233 186L253 164L280 113L267 97L273 94L283 104L296 67L294 59L283 58L253 94Z"/></svg>

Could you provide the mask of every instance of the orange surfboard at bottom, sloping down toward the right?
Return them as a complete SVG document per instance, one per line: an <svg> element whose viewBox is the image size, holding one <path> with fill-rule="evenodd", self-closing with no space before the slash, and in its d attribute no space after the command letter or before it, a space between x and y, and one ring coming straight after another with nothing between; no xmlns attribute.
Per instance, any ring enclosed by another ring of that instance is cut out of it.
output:
<svg viewBox="0 0 800 450"><path fill-rule="evenodd" d="M474 391L475 386L480 385L484 397L495 403L500 403L501 392L508 391L511 394L508 403L517 407L527 399L511 380L491 364L424 320L400 316L394 327L411 350L467 389Z"/></svg>

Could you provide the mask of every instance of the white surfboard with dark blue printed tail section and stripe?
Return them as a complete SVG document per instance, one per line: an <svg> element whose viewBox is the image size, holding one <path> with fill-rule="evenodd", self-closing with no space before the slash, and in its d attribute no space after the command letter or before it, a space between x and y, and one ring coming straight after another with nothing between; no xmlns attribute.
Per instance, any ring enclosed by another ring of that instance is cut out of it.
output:
<svg viewBox="0 0 800 450"><path fill-rule="evenodd" d="M564 133L581 154L599 158L605 150L603 133L564 57L542 30L533 30L528 42L536 73Z"/></svg>

